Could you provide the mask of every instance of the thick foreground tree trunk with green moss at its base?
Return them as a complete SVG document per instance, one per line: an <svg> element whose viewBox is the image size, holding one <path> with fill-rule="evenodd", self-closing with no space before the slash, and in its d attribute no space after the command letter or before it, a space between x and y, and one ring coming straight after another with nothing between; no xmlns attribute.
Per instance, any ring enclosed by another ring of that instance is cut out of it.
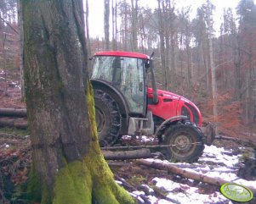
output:
<svg viewBox="0 0 256 204"><path fill-rule="evenodd" d="M134 203L100 152L82 0L21 0L33 171L28 191L56 204Z"/></svg>

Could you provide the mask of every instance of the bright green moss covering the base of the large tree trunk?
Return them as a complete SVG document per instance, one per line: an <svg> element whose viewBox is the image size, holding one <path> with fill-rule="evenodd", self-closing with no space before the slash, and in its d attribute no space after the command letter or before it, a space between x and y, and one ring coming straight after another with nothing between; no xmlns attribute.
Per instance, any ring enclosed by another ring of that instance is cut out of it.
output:
<svg viewBox="0 0 256 204"><path fill-rule="evenodd" d="M54 204L132 204L134 199L117 185L102 154L61 168L54 185Z"/></svg>

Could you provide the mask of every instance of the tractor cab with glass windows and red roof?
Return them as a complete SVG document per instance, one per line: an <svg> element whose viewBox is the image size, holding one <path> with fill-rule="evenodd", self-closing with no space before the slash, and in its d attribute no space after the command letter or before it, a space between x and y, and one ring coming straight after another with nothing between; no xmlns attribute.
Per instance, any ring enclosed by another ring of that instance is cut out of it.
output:
<svg viewBox="0 0 256 204"><path fill-rule="evenodd" d="M92 79L103 80L121 92L129 115L145 116L145 66L149 57L134 52L97 52Z"/></svg>

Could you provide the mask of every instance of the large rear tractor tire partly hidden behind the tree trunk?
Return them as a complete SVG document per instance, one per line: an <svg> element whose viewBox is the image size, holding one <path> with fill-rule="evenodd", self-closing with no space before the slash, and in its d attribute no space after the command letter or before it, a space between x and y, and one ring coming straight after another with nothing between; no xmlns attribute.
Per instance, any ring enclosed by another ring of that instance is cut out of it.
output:
<svg viewBox="0 0 256 204"><path fill-rule="evenodd" d="M119 139L122 122L117 102L104 91L94 90L94 103L100 146L111 146Z"/></svg>

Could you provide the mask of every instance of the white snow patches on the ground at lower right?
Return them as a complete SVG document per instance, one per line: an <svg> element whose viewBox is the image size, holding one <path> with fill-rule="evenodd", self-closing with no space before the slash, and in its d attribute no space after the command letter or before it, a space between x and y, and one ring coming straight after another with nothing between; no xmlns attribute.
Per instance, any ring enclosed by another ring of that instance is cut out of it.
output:
<svg viewBox="0 0 256 204"><path fill-rule="evenodd" d="M205 146L202 157L198 160L198 163L188 164L188 163L178 163L185 165L192 165L193 168L185 168L188 171L194 171L200 174L206 174L213 178L221 178L228 180L230 182L236 182L237 184L245 185L250 188L250 186L256 186L256 181L248 181L245 179L240 179L236 175L237 164L239 163L239 158L242 155L233 155L232 150L226 151L222 147L217 146ZM152 160L152 159L150 159ZM158 160L159 161L159 160ZM157 162L157 160L154 160ZM162 163L162 161L160 161ZM168 163L168 161L164 161ZM197 168L195 168L195 166ZM193 181L192 179L189 179ZM134 191L131 193L132 196L139 198L139 201L143 203L141 197L146 197L151 204L167 204L167 203L190 203L190 204L213 204L213 203L226 203L231 204L232 201L222 196L219 191L214 191L212 194L203 194L196 187L190 185L180 184L174 182L170 179L164 178L154 178L152 181L155 182L156 187L168 192L168 199L159 199L152 193L151 196L145 196L144 191ZM151 190L151 192L154 190ZM168 200L168 201L167 201Z"/></svg>

